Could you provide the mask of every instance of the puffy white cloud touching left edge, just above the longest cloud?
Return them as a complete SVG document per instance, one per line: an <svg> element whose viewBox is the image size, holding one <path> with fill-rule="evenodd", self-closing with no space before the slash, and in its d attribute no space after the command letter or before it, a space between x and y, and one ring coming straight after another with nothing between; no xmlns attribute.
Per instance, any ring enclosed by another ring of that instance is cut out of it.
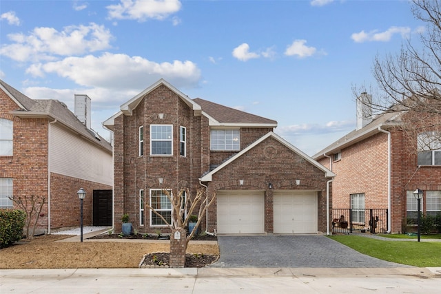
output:
<svg viewBox="0 0 441 294"><path fill-rule="evenodd" d="M110 48L112 34L103 25L71 25L59 32L54 28L34 28L28 34L9 34L14 42L3 45L0 54L14 61L50 61L54 55L70 56Z"/></svg>

